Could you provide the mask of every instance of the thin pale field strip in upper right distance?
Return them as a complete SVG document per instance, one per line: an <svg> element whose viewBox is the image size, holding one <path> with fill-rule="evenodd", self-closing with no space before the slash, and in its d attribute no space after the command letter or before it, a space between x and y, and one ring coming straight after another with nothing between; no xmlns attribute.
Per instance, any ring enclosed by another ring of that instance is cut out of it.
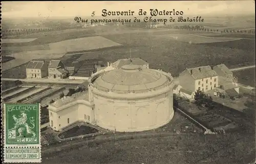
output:
<svg viewBox="0 0 256 164"><path fill-rule="evenodd" d="M205 37L194 34L170 34L170 35L157 35L156 37L163 37L170 40L177 40L187 43L214 43L214 42L225 42L231 40L239 40L240 38L214 38L214 37Z"/></svg>

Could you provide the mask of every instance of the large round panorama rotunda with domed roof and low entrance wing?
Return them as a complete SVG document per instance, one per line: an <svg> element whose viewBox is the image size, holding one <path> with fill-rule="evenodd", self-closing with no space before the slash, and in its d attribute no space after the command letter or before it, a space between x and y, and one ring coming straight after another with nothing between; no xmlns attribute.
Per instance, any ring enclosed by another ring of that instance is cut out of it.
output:
<svg viewBox="0 0 256 164"><path fill-rule="evenodd" d="M88 91L49 105L50 126L61 130L84 121L113 131L143 131L172 120L173 77L139 65L99 72L89 78Z"/></svg>

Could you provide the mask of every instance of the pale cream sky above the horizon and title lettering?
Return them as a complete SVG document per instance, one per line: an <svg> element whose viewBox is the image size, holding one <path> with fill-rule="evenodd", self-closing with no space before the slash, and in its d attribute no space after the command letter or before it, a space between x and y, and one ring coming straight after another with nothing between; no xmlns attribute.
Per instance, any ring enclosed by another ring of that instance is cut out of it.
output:
<svg viewBox="0 0 256 164"><path fill-rule="evenodd" d="M255 5L249 1L108 1L108 2L1 2L2 18L20 17L67 17L90 16L94 11L95 16L100 16L102 9L108 11L135 11L139 9L183 11L183 15L226 15L226 14L254 14Z"/></svg>

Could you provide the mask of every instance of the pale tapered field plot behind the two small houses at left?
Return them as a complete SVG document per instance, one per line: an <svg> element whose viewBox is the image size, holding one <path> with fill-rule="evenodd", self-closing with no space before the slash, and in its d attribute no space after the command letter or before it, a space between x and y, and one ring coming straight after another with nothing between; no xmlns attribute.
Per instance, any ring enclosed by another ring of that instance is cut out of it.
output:
<svg viewBox="0 0 256 164"><path fill-rule="evenodd" d="M113 42L109 39L106 39L100 36L70 39L70 40L49 44L51 49L65 50L66 52L91 50L91 49L113 47L113 46L120 46L120 45L121 44Z"/></svg>

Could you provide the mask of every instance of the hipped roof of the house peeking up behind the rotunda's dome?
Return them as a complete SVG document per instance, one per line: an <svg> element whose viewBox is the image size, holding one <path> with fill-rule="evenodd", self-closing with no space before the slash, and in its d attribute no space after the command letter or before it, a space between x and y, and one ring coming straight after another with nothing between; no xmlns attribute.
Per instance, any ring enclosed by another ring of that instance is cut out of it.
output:
<svg viewBox="0 0 256 164"><path fill-rule="evenodd" d="M124 65L129 65L129 64L134 64L134 65L145 65L148 64L147 62L143 61L140 58L133 58L133 59L119 59L116 62L113 63L113 65L116 68L121 68Z"/></svg>

